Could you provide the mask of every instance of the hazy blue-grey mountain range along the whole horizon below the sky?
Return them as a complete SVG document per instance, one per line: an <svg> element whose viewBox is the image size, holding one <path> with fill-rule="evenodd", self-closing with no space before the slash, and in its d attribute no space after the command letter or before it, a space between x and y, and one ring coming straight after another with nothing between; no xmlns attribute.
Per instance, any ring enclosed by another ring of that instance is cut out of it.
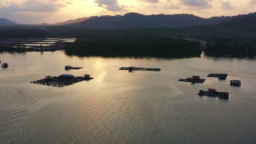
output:
<svg viewBox="0 0 256 144"><path fill-rule="evenodd" d="M193 14L172 14L172 15L142 15L138 13L127 13L123 16L91 16L75 20L55 23L59 26L77 27L85 29L120 29L120 28L150 28L150 27L193 27L193 26L224 26L239 27L255 30L256 13L237 16L220 16L203 18ZM0 26L13 26L17 23L7 19L0 19Z"/></svg>

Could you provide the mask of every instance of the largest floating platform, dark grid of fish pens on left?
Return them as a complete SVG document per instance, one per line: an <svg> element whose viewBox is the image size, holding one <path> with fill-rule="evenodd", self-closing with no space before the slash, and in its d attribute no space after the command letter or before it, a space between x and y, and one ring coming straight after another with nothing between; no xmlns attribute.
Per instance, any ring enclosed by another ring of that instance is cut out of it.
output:
<svg viewBox="0 0 256 144"><path fill-rule="evenodd" d="M65 87L73 85L74 83L82 82L82 81L90 81L94 78L90 77L90 75L77 76L74 75L60 75L60 76L45 76L45 79L38 81L31 81L31 83L35 83L38 85L45 86L53 86L53 87Z"/></svg>

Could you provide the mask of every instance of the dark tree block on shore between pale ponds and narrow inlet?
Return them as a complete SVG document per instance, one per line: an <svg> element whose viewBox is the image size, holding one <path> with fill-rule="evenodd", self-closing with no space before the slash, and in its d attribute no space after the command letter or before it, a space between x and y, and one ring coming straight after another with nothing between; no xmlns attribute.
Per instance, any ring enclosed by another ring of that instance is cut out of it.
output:
<svg viewBox="0 0 256 144"><path fill-rule="evenodd" d="M164 37L126 37L78 40L66 45L68 55L191 57L200 56L197 43Z"/></svg>

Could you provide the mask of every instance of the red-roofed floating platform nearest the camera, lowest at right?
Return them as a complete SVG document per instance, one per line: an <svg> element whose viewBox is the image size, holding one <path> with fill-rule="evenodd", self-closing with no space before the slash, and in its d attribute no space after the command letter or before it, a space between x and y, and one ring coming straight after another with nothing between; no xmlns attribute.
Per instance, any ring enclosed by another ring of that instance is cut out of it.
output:
<svg viewBox="0 0 256 144"><path fill-rule="evenodd" d="M200 90L198 95L208 97L218 97L220 99L229 99L229 93L217 92L216 89L208 88L208 91Z"/></svg>

